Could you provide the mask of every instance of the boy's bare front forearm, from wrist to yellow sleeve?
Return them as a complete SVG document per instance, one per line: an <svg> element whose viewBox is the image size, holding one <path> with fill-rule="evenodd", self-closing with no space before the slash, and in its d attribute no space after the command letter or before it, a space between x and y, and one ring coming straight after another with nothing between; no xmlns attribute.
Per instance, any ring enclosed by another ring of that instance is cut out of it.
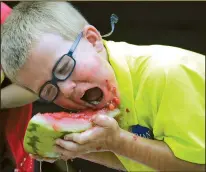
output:
<svg viewBox="0 0 206 172"><path fill-rule="evenodd" d="M205 165L176 158L163 141L137 137L132 133L121 130L120 140L116 143L118 144L113 148L115 153L158 171L205 171Z"/></svg>

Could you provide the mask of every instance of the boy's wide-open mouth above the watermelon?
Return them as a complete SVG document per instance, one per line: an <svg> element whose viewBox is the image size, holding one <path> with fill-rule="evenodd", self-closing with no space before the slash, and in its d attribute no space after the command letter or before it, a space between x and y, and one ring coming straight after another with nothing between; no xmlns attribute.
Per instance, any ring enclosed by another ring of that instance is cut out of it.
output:
<svg viewBox="0 0 206 172"><path fill-rule="evenodd" d="M85 91L81 100L92 105L98 105L103 99L103 91L99 87L90 88Z"/></svg>

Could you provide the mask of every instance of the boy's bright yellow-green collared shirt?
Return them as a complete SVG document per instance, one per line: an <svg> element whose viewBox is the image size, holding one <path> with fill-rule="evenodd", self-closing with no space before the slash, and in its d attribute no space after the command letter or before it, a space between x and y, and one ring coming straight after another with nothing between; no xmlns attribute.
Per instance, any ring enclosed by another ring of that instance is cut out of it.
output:
<svg viewBox="0 0 206 172"><path fill-rule="evenodd" d="M205 164L205 56L163 45L104 44L119 84L120 127L148 127L177 158ZM151 171L117 157L128 171Z"/></svg>

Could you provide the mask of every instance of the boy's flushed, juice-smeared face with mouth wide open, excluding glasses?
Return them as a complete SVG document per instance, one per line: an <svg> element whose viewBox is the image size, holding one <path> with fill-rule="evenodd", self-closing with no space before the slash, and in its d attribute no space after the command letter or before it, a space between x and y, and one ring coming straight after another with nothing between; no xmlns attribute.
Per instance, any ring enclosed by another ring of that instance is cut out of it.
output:
<svg viewBox="0 0 206 172"><path fill-rule="evenodd" d="M44 83L52 79L56 62L69 51L72 44L72 41L58 35L45 34L19 71L18 82L39 94ZM104 50L97 32L84 33L73 53L76 66L72 75L65 81L57 82L59 94L54 100L55 104L74 110L102 108L115 96L118 97L114 71Z"/></svg>

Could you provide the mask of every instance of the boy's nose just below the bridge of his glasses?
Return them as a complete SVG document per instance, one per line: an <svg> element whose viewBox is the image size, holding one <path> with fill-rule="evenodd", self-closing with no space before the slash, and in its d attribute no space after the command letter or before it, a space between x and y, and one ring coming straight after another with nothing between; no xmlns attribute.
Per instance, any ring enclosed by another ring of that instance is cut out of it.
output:
<svg viewBox="0 0 206 172"><path fill-rule="evenodd" d="M64 82L58 83L60 91L64 94L65 97L69 98L76 87L76 84L73 81L66 80Z"/></svg>

